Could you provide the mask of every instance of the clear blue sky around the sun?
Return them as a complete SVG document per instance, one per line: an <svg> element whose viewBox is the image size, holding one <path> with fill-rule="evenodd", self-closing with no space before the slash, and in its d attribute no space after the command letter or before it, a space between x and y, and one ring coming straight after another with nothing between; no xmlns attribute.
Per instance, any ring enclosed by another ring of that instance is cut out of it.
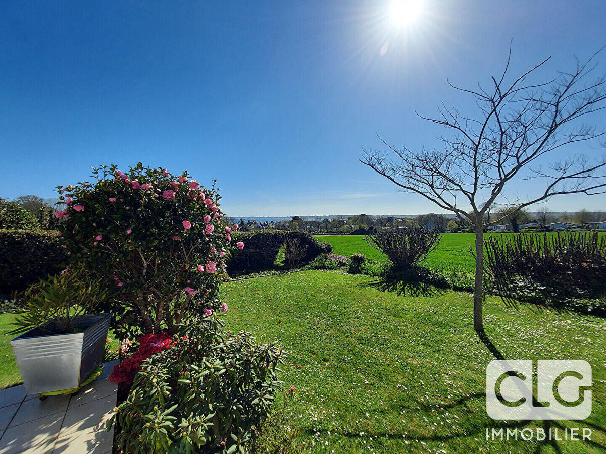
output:
<svg viewBox="0 0 606 454"><path fill-rule="evenodd" d="M473 113L446 79L490 81L511 39L513 73L547 56L546 76L571 68L606 44L606 2L422 3L396 27L388 0L2 0L0 197L141 161L218 180L233 216L438 211L359 163L362 148L381 149L377 134L437 145L415 110ZM547 206L606 210L606 196Z"/></svg>

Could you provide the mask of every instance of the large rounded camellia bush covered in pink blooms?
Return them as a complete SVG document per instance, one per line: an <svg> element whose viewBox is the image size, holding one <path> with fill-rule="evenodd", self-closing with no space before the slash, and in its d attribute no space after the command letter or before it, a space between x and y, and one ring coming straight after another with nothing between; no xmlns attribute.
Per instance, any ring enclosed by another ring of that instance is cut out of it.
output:
<svg viewBox="0 0 606 454"><path fill-rule="evenodd" d="M55 217L66 254L112 291L114 329L173 334L188 317L227 311L219 284L244 243L231 240L238 226L228 225L214 184L141 163L126 173L100 166L92 177L58 186L65 209Z"/></svg>

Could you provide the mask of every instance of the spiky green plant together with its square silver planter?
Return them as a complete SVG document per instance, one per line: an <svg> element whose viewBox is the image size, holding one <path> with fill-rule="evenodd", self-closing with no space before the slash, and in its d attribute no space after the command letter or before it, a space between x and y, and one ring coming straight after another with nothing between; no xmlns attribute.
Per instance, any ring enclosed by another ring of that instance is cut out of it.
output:
<svg viewBox="0 0 606 454"><path fill-rule="evenodd" d="M28 394L80 386L99 367L109 314L92 314L106 291L84 265L40 280L24 294L28 309L10 341Z"/></svg>

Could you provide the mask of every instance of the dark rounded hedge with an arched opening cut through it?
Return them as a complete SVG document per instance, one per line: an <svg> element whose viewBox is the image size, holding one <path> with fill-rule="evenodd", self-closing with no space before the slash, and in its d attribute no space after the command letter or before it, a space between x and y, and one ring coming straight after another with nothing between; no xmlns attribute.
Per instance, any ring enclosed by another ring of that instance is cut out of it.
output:
<svg viewBox="0 0 606 454"><path fill-rule="evenodd" d="M308 232L297 230L263 229L252 232L238 232L237 240L244 242L244 249L234 253L227 263L228 272L259 271L271 269L278 257L278 251L287 240L298 238L301 246L307 246L301 265L306 265L320 254L329 254L333 246L319 242Z"/></svg>

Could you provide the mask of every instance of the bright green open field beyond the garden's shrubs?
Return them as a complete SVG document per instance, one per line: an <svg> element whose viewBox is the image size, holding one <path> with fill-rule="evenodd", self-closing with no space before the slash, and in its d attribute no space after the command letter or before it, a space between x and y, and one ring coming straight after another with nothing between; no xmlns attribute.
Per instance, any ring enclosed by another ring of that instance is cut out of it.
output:
<svg viewBox="0 0 606 454"><path fill-rule="evenodd" d="M486 233L484 238L489 236L513 236L514 233ZM548 234L553 235L553 234ZM364 241L364 235L319 235L316 237L320 241L327 241L333 245L335 254L347 255L361 252L366 257L373 260L385 262L387 255L372 248ZM435 251L430 252L425 265L443 268L462 268L468 272L474 270L474 258L469 252L473 247L473 233L443 233L442 239Z"/></svg>

